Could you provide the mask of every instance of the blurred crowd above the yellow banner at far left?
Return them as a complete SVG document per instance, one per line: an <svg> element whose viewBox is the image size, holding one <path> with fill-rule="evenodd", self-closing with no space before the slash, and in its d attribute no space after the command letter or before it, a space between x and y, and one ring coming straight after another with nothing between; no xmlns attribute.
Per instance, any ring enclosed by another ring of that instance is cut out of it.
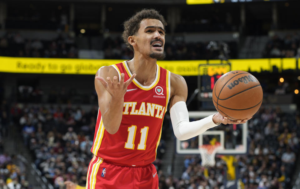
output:
<svg viewBox="0 0 300 189"><path fill-rule="evenodd" d="M78 58L75 39L61 33L55 40L26 39L20 33L6 33L0 38L0 56L35 58Z"/></svg>

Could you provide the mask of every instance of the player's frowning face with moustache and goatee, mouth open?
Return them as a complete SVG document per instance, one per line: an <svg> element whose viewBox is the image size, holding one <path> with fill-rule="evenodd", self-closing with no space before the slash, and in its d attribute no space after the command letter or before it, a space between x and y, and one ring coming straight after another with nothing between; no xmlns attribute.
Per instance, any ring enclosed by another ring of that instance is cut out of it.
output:
<svg viewBox="0 0 300 189"><path fill-rule="evenodd" d="M163 53L165 30L161 21L157 19L142 20L134 38L136 38L135 50L153 59L162 60L165 58Z"/></svg>

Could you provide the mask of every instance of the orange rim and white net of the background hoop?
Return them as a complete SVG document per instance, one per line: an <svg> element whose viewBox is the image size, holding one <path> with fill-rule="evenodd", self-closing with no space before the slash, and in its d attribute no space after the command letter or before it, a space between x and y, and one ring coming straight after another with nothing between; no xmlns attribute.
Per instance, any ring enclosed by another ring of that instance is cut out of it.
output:
<svg viewBox="0 0 300 189"><path fill-rule="evenodd" d="M199 151L201 154L201 165L204 167L212 167L215 166L215 155L222 146L220 143L216 143L215 145L204 144L199 146Z"/></svg>

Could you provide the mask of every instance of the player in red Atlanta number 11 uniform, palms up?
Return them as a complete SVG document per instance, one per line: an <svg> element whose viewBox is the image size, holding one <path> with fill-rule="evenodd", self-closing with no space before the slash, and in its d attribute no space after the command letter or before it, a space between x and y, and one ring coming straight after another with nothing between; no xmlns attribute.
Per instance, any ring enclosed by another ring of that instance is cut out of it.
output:
<svg viewBox="0 0 300 189"><path fill-rule="evenodd" d="M144 9L124 22L123 39L133 59L100 68L95 76L99 112L88 167L87 189L158 188L152 162L170 103L175 136L187 140L220 123L239 124L219 113L189 122L187 84L182 76L159 67L165 57L165 19Z"/></svg>

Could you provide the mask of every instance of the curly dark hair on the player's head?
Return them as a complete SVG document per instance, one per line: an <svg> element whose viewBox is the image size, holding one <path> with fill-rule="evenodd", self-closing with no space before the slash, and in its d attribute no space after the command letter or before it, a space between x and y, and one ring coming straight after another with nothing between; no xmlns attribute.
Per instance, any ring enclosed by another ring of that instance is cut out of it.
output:
<svg viewBox="0 0 300 189"><path fill-rule="evenodd" d="M135 35L138 33L138 29L140 28L140 23L143 19L157 19L163 23L164 29L167 26L167 22L163 15L159 14L159 12L155 9L147 9L135 13L131 18L126 20L123 23L124 31L122 34L122 38L126 43L126 46L133 51L133 46L129 44L128 37L131 35Z"/></svg>

